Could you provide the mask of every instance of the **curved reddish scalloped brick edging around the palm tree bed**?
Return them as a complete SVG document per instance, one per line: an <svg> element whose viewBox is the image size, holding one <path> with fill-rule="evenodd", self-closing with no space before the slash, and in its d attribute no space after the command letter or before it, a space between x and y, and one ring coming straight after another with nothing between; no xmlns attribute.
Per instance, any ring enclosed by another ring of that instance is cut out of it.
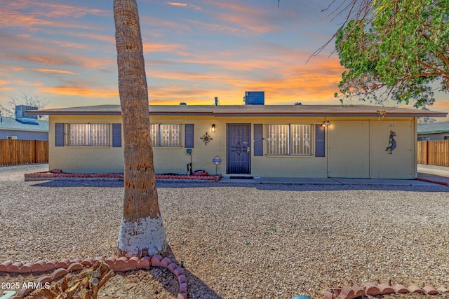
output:
<svg viewBox="0 0 449 299"><path fill-rule="evenodd" d="M172 272L179 284L179 293L177 294L177 299L187 299L187 279L185 277L182 267L178 267L176 263L172 262L170 258L163 258L162 256L155 255L152 258L147 256L143 258L137 257L121 257L114 258L109 257L106 260L103 258L86 258L81 260L76 258L74 260L69 260L64 258L62 260L39 260L36 263L23 264L21 262L11 263L10 261L5 261L0 263L0 272L15 273L15 274L32 274L39 272L49 272L53 271L51 274L43 275L36 280L37 284L46 284L55 281L56 279L64 276L69 272L76 270L83 270L83 268L91 267L96 262L106 263L111 270L116 272L123 272L129 270L138 269L149 269L149 267L165 267L170 272ZM26 288L25 286L19 291L13 299L23 299L26 295L34 291L35 288Z"/></svg>

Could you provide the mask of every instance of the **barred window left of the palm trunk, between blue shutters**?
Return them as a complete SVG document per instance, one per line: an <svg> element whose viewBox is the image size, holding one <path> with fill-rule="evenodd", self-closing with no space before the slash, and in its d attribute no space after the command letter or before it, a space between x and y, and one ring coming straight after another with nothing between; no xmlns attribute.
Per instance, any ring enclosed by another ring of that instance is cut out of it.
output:
<svg viewBox="0 0 449 299"><path fill-rule="evenodd" d="M67 146L109 146L109 124L67 123Z"/></svg>

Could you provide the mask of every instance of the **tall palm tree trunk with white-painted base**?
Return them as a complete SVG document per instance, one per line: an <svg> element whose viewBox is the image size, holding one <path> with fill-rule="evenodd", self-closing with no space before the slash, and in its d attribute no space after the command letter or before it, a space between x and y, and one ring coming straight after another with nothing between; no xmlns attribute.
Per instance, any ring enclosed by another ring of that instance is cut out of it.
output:
<svg viewBox="0 0 449 299"><path fill-rule="evenodd" d="M154 175L147 78L136 0L114 0L114 22L125 165L117 254L151 256L166 251L167 241Z"/></svg>

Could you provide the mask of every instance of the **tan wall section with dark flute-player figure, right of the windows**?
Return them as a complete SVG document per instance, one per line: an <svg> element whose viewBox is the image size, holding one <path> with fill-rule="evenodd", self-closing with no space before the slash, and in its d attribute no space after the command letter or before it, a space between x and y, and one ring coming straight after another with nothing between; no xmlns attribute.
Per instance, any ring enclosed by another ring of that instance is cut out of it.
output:
<svg viewBox="0 0 449 299"><path fill-rule="evenodd" d="M330 177L415 179L414 118L331 120L329 128ZM390 131L396 148L386 151Z"/></svg>

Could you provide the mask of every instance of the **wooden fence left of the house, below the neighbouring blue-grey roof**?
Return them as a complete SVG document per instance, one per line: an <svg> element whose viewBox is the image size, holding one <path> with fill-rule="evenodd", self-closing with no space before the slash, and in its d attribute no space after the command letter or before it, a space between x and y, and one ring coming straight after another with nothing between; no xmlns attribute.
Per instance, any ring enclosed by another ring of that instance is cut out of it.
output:
<svg viewBox="0 0 449 299"><path fill-rule="evenodd" d="M48 162L48 141L0 139L0 165Z"/></svg>

